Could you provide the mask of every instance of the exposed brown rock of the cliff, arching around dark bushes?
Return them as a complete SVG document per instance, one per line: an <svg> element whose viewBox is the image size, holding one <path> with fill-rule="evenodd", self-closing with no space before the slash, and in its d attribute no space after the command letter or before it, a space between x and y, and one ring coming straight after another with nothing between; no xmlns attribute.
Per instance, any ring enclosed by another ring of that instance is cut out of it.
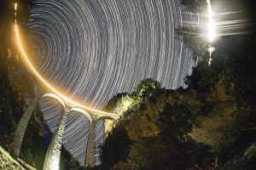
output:
<svg viewBox="0 0 256 170"><path fill-rule="evenodd" d="M189 135L192 139L206 144L218 144L224 137L224 132L230 129L233 119L232 112L236 111L233 97L224 94L222 78L215 88L207 93L198 93L194 89L189 91L170 91L157 97L156 103L145 99L144 105L136 113L122 122L131 141L154 137L160 133L157 126L160 112L164 111L166 103L179 105L191 114L193 124ZM127 98L127 97L125 97ZM124 100L120 99L119 101ZM119 103L122 105L122 102ZM128 109L129 105L126 105ZM114 110L113 110L114 111ZM116 111L116 110L115 110ZM125 112L125 111L123 111ZM173 117L175 119L175 117Z"/></svg>

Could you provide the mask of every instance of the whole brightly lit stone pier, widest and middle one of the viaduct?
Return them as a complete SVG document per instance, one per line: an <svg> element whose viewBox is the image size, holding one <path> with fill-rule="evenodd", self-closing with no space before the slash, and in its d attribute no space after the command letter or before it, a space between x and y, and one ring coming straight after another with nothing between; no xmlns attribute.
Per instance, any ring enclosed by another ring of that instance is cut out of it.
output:
<svg viewBox="0 0 256 170"><path fill-rule="evenodd" d="M60 156L61 156L61 143L62 143L62 135L64 133L64 129L66 126L67 115L69 110L65 108L64 114L61 116L61 120L56 129L55 135L49 145L49 149L47 150L47 154L44 160L45 170L59 170L60 169Z"/></svg>

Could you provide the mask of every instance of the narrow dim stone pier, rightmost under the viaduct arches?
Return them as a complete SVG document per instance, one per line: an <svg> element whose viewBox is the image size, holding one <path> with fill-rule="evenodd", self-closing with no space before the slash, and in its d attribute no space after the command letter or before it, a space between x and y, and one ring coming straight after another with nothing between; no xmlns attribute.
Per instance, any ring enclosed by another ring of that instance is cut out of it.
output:
<svg viewBox="0 0 256 170"><path fill-rule="evenodd" d="M94 142L94 125L95 120L92 119L90 124L90 131L88 136L88 143L86 149L86 156L85 156L85 167L93 167L94 166L94 149L93 149L93 142Z"/></svg>

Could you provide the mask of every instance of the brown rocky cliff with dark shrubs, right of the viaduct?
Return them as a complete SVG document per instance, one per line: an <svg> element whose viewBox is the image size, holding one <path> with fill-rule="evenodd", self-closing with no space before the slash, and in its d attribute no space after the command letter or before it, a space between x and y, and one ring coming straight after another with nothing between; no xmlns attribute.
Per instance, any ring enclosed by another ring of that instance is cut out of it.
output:
<svg viewBox="0 0 256 170"><path fill-rule="evenodd" d="M120 108L122 100L118 99L115 107ZM116 128L125 128L122 133L127 133L130 140L129 156L126 161L116 161L114 167L214 169L224 166L232 156L221 157L236 143L237 132L241 132L237 118L232 116L236 111L233 100L224 94L223 78L219 77L215 87L207 92L162 89L162 93L149 94L138 102L137 109L132 109L135 102L126 105L127 110L119 115ZM113 108L113 111L118 110ZM107 143L118 134L114 129Z"/></svg>

